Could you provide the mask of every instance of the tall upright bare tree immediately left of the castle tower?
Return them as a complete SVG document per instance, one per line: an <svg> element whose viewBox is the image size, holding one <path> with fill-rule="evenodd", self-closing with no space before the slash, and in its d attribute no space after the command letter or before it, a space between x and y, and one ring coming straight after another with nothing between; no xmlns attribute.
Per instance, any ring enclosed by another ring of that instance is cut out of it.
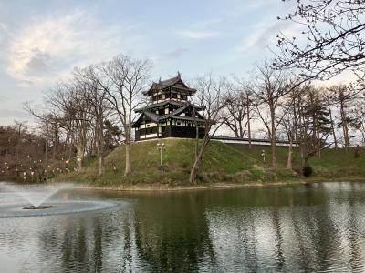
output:
<svg viewBox="0 0 365 273"><path fill-rule="evenodd" d="M140 105L139 96L146 87L151 74L151 62L149 60L132 59L130 56L117 56L110 62L97 66L99 73L103 75L103 81L99 80L113 110L119 116L123 126L125 144L125 171L124 175L131 173L130 143L131 123L134 109Z"/></svg>

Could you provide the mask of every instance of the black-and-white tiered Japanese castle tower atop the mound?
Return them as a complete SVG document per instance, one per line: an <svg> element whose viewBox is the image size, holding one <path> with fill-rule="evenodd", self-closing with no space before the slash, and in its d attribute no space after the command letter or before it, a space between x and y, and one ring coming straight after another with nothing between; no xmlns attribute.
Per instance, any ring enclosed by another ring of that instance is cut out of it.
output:
<svg viewBox="0 0 365 273"><path fill-rule="evenodd" d="M183 83L179 72L175 77L153 83L149 90L143 92L143 95L151 96L151 105L135 110L141 114L132 125L136 141L165 137L195 138L195 123L199 137L203 137L204 120L199 114L203 107L193 106L188 101L195 92Z"/></svg>

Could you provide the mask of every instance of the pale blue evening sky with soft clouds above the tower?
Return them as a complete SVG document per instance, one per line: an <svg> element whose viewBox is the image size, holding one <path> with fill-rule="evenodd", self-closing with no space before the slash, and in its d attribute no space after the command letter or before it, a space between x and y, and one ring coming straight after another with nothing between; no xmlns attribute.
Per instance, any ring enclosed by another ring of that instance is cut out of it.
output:
<svg viewBox="0 0 365 273"><path fill-rule="evenodd" d="M273 56L279 31L297 32L276 19L295 2L0 0L0 126L31 119L24 103L41 104L75 66L119 54L151 59L155 81L246 76Z"/></svg>

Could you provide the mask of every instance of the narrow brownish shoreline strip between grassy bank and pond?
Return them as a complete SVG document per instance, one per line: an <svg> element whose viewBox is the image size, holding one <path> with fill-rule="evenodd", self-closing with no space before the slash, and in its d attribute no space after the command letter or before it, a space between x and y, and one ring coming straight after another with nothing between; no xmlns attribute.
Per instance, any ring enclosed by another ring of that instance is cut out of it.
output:
<svg viewBox="0 0 365 273"><path fill-rule="evenodd" d="M276 182L251 182L251 183L214 183L206 185L186 185L186 186L165 186L159 184L137 184L137 185L124 185L122 187L99 187L90 186L87 184L77 185L76 189L89 189L89 190L108 190L108 191L127 191L127 192L178 192L178 191L194 191L194 190L208 190L208 189L230 189L230 188L242 188L242 187L281 187L281 186L296 186L296 185L308 185L324 182L362 182L365 181L365 177L316 177L308 179L300 179L297 181L276 181Z"/></svg>

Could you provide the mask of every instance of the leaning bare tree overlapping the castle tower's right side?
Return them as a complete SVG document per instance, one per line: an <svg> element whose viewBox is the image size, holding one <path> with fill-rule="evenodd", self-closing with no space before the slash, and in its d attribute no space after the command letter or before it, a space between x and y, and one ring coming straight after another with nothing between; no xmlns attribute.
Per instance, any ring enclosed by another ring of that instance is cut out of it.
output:
<svg viewBox="0 0 365 273"><path fill-rule="evenodd" d="M193 167L190 172L190 183L193 183L199 171L203 160L205 147L214 136L215 132L222 126L222 114L224 109L224 95L230 86L226 79L221 78L215 81L212 75L197 77L193 83L197 93L193 97L193 102L198 106L203 106L201 115L203 116L203 125L205 133L201 145L197 148L194 158Z"/></svg>

